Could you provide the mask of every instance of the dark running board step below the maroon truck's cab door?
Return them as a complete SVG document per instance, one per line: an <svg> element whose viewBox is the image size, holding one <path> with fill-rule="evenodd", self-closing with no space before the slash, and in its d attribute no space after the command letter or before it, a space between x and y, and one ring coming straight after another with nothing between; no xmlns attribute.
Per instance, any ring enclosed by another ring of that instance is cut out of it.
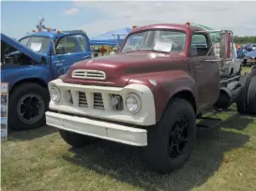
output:
<svg viewBox="0 0 256 191"><path fill-rule="evenodd" d="M210 118L210 117L198 117L197 119L201 120L197 123L197 127L205 129L205 130L212 130L218 125L221 124L221 119Z"/></svg>

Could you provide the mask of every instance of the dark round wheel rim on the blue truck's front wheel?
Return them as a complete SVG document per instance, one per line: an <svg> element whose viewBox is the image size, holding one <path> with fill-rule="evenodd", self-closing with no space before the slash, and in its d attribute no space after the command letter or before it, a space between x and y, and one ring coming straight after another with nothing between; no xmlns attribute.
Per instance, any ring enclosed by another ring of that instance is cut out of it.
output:
<svg viewBox="0 0 256 191"><path fill-rule="evenodd" d="M17 105L19 118L26 124L37 122L44 114L44 101L40 95L23 95Z"/></svg>

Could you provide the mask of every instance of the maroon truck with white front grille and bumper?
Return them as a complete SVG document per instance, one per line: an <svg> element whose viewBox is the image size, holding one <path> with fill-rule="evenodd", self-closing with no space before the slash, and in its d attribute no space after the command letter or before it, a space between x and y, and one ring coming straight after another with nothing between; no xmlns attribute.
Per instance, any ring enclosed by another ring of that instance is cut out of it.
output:
<svg viewBox="0 0 256 191"><path fill-rule="evenodd" d="M47 125L59 128L73 147L112 140L143 147L147 164L158 172L180 168L197 128L218 125L203 111L236 103L240 113L256 113L255 68L221 79L233 33L220 31L221 59L209 33L189 23L133 29L116 55L79 62L49 82Z"/></svg>

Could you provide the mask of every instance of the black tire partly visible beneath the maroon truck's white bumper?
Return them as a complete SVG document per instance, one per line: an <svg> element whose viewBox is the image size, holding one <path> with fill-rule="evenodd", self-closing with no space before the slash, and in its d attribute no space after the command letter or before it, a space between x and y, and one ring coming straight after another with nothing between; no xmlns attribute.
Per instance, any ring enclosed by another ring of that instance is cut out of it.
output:
<svg viewBox="0 0 256 191"><path fill-rule="evenodd" d="M81 148L98 141L97 138L84 136L62 129L59 130L59 134L63 140L65 140L69 145L74 148Z"/></svg>

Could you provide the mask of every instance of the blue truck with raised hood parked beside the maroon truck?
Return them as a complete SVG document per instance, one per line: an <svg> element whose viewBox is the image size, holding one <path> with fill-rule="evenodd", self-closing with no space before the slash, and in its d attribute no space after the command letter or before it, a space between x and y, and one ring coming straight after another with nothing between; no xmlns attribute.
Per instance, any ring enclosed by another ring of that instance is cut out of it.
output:
<svg viewBox="0 0 256 191"><path fill-rule="evenodd" d="M89 38L77 31L39 31L16 41L1 34L1 82L8 82L8 127L22 130L45 124L49 81L69 66L91 59Z"/></svg>

